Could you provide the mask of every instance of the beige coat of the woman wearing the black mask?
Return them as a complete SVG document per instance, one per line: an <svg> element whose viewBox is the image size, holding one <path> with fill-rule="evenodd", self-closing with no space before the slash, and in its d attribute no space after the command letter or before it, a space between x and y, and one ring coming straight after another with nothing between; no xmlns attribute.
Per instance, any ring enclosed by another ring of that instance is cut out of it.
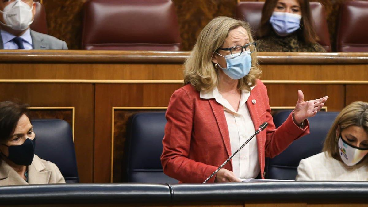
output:
<svg viewBox="0 0 368 207"><path fill-rule="evenodd" d="M37 155L28 166L28 183L10 165L0 159L0 186L52 183L65 183L65 180L55 164Z"/></svg>

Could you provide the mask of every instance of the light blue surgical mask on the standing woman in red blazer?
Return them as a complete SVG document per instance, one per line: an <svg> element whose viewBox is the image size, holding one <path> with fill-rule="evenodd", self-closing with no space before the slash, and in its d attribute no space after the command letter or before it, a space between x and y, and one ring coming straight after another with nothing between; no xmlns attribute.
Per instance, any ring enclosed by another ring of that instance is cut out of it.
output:
<svg viewBox="0 0 368 207"><path fill-rule="evenodd" d="M234 80L238 80L240 78L245 77L246 75L248 75L249 71L251 70L252 57L250 53L247 53L246 51L242 52L237 57L234 57L237 54L234 54L234 56L232 56L231 54L226 55L226 56L223 56L219 53L217 54L225 58L227 68L221 67L220 64L218 63L217 65L224 71L224 73L227 76L229 76L230 78Z"/></svg>

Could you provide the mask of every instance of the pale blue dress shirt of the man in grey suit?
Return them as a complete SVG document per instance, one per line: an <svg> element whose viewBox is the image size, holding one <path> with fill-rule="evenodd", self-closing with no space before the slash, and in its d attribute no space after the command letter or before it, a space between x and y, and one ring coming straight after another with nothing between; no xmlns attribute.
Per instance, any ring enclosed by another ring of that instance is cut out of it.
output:
<svg viewBox="0 0 368 207"><path fill-rule="evenodd" d="M8 50L16 50L18 49L18 45L12 41L16 36L10 34L7 31L1 30L1 38L3 39L3 45L4 49ZM23 39L23 45L25 50L32 50L33 49L33 43L32 43L32 37L31 37L31 30L28 28L24 34L20 36Z"/></svg>

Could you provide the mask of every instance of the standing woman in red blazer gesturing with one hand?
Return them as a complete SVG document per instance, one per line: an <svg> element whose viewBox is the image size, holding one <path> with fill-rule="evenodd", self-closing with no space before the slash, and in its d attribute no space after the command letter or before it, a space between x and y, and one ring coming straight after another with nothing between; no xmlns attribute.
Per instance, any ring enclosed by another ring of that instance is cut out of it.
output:
<svg viewBox="0 0 368 207"><path fill-rule="evenodd" d="M264 178L265 157L274 157L309 133L306 120L328 97L298 101L278 129L267 90L258 78L256 43L246 22L229 17L210 21L185 62L184 86L170 98L161 163L164 173L184 183L201 183L263 122L259 133L209 182Z"/></svg>

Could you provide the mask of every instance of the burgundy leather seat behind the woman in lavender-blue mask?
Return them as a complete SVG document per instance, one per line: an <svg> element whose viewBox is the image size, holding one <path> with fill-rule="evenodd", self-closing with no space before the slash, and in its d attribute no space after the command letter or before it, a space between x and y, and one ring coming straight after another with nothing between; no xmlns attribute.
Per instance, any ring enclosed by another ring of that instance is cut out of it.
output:
<svg viewBox="0 0 368 207"><path fill-rule="evenodd" d="M261 23L262 8L264 2L242 1L236 8L236 18L249 22L254 31L257 31ZM328 32L325 7L319 2L311 2L311 13L314 20L315 29L320 43L327 52L331 51L331 41Z"/></svg>

